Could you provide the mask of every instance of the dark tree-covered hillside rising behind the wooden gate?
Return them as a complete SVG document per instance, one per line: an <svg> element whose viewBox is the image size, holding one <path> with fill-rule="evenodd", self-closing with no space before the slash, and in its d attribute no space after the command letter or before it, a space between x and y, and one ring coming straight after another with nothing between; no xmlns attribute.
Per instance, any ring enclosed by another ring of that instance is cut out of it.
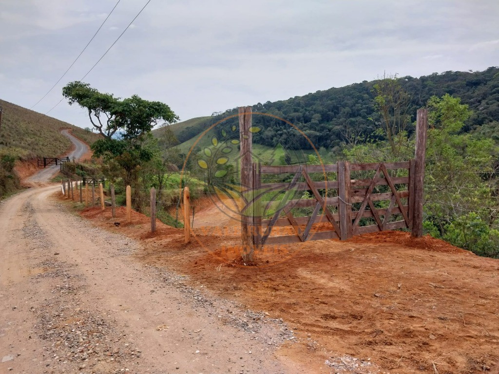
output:
<svg viewBox="0 0 499 374"><path fill-rule="evenodd" d="M426 105L431 96L446 93L460 97L468 104L472 115L466 121L463 131L472 129L484 131L493 137L499 121L499 67L485 71L446 71L420 78L399 77L398 81L410 95L409 114L413 122L417 108ZM340 88L296 96L288 100L258 103L253 112L270 114L303 131L315 147L332 149L342 142L365 140L379 128L379 114L374 108L373 86L376 81L364 81ZM185 142L198 135L213 123L227 116L237 114L237 108L212 117L201 117L175 125L173 129L179 141ZM195 124L191 123L195 121ZM233 118L222 125L230 128L237 122ZM193 126L194 125L194 126ZM484 129L481 126L486 125ZM265 146L281 144L286 149L310 149L311 146L298 131L283 121L268 116L253 116L253 126L261 129L253 134L253 142ZM409 134L413 131L410 125Z"/></svg>

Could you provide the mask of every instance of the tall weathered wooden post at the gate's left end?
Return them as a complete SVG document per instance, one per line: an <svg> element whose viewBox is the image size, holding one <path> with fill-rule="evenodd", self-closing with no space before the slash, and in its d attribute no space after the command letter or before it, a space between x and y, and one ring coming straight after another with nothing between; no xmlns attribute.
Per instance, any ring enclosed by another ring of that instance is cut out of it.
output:
<svg viewBox="0 0 499 374"><path fill-rule="evenodd" d="M253 189L253 161L252 161L252 136L251 107L239 107L239 140L241 147L241 196L242 204L250 203ZM251 204L247 211L241 212L241 239L243 243L243 263L253 262L253 209Z"/></svg>

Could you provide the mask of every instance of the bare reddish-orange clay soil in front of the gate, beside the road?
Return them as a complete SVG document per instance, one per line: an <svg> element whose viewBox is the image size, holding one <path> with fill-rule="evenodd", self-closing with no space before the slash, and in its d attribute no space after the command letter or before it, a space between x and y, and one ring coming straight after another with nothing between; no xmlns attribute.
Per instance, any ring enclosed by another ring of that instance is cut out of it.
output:
<svg viewBox="0 0 499 374"><path fill-rule="evenodd" d="M186 245L182 229L161 222L150 234L142 214L125 223L123 208L81 215L142 240L137 261L282 318L298 343L280 352L311 372L331 372L325 360L346 354L370 359L372 373L499 373L498 260L388 231L264 247L256 266L242 266L237 226L195 228Z"/></svg>

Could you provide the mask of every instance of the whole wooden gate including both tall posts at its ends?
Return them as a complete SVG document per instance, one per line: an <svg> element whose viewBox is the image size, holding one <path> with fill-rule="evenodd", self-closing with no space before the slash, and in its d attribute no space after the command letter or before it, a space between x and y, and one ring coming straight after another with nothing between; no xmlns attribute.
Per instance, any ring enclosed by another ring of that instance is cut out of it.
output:
<svg viewBox="0 0 499 374"><path fill-rule="evenodd" d="M245 201L241 238L245 263L251 262L254 249L264 244L345 240L353 235L404 227L411 229L412 236L423 235L426 109L417 112L415 159L372 164L253 164L251 115L251 107L239 108L241 192ZM261 183L265 174L283 173L290 173L293 178L289 182ZM324 178L314 181L313 173L322 173ZM351 179L352 174L361 175ZM300 190L306 191L306 197L310 198L297 196ZM268 199L272 193L274 198ZM294 208L307 207L311 209L310 215L296 216L292 212ZM287 228L288 232L272 235L277 227Z"/></svg>

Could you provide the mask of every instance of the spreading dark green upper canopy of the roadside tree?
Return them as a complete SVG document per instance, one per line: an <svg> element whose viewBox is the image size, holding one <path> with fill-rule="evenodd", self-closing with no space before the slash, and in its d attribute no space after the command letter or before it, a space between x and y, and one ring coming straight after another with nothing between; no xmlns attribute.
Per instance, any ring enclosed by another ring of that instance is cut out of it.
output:
<svg viewBox="0 0 499 374"><path fill-rule="evenodd" d="M175 123L179 119L162 102L147 101L137 95L122 100L80 81L64 86L62 95L68 99L69 105L77 103L85 108L92 126L108 139L116 132L123 139L140 139L161 121Z"/></svg>

